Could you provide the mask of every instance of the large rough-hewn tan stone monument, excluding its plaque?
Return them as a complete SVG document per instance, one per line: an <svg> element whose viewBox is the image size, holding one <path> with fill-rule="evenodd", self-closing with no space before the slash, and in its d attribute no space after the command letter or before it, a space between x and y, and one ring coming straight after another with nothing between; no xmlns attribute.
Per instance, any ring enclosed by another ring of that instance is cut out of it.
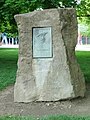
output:
<svg viewBox="0 0 90 120"><path fill-rule="evenodd" d="M19 59L15 102L58 101L84 96L85 82L75 57L75 9L49 9L15 16ZM53 57L33 59L32 27L52 26Z"/></svg>

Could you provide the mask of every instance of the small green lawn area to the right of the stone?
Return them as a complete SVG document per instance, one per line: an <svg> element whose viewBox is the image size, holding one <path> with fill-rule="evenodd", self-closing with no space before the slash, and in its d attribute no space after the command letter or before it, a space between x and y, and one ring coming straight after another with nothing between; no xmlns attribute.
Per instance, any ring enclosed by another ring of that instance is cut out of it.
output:
<svg viewBox="0 0 90 120"><path fill-rule="evenodd" d="M85 81L90 82L90 52L89 51L77 51L77 61L80 64L80 68L85 76Z"/></svg>

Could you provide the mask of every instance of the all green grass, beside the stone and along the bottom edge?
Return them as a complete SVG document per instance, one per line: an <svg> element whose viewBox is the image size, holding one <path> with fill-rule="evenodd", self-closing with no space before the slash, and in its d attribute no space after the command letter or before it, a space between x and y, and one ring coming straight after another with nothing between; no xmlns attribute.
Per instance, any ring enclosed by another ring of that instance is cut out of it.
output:
<svg viewBox="0 0 90 120"><path fill-rule="evenodd" d="M85 75L86 82L90 81L90 52L76 52L78 63ZM0 90L15 83L17 70L18 49L0 49ZM90 117L47 116L42 118L0 116L0 120L90 120Z"/></svg>

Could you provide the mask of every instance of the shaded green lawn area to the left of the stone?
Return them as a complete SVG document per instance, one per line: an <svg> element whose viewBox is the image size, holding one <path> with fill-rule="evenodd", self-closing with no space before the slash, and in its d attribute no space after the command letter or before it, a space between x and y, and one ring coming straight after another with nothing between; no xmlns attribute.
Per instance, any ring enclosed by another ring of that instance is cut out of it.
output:
<svg viewBox="0 0 90 120"><path fill-rule="evenodd" d="M14 84L17 59L18 49L0 49L0 90Z"/></svg>

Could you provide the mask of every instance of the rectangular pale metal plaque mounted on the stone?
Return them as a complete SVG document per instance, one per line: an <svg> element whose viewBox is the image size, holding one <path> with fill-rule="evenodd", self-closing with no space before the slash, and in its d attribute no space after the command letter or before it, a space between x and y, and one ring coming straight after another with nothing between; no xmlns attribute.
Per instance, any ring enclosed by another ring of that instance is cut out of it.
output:
<svg viewBox="0 0 90 120"><path fill-rule="evenodd" d="M51 27L34 27L33 30L33 58L52 57Z"/></svg>

